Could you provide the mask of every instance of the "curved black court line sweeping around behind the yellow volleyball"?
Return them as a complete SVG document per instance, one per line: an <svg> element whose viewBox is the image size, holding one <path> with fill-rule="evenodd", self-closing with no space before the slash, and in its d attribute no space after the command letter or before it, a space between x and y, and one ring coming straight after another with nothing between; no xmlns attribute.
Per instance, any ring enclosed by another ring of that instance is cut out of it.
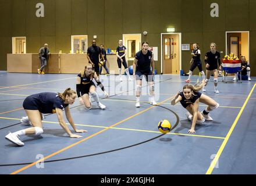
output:
<svg viewBox="0 0 256 186"><path fill-rule="evenodd" d="M125 100L129 100L129 99L125 99ZM130 100L129 100L129 101L130 101ZM144 102L144 103L148 103L148 102ZM150 103L148 103L148 104L150 104ZM155 106L159 106L159 107L161 107L161 108L167 109L167 110L169 110L170 112L172 112L172 113L176 116L177 121L176 121L175 125L170 129L170 131L172 131L173 129L175 129L175 128L177 127L177 125L179 124L179 121L180 121L180 120L179 120L179 116L178 116L175 112L173 112L173 110L170 110L170 109L168 109L168 108L165 108L164 106L160 106L160 105L155 105ZM102 154L105 154L105 153L120 151L120 150L123 150L123 149L131 148L131 147L133 147L133 146L138 146L138 145L141 145L141 144L145 144L145 143L150 142L150 141L152 141L152 140L156 140L157 138L162 137L163 135L165 135L165 134L158 135L157 137L151 138L151 139L146 140L146 141L143 141L143 142L139 142L139 143L137 143L137 144L125 146L125 147L118 148L118 149L113 149L113 150L110 150L110 151L98 152L98 153L93 153L93 154L90 154L90 155L83 155L83 156L74 156L74 157L71 157L71 158L63 158L63 159L48 160L48 161L40 162L40 163L61 162L61 161L65 161L65 160L86 158L86 157L90 157L90 156L97 156L97 155L102 155ZM29 163L13 163L13 164L0 164L0 167L6 167L6 166L21 166L21 165L26 165L26 164L31 164L31 163L34 163L34 162L29 162Z"/></svg>

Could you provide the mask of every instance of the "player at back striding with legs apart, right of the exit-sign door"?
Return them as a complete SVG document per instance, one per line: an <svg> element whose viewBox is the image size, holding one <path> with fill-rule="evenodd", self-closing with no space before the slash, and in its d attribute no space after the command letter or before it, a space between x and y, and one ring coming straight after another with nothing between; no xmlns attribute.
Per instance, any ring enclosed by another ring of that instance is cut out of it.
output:
<svg viewBox="0 0 256 186"><path fill-rule="evenodd" d="M197 43L193 44L193 51L191 52L192 58L190 60L190 70L189 70L189 78L187 78L187 80L185 81L186 83L190 83L190 78L193 74L193 71L195 69L195 67L198 67L201 75L202 75L202 80L204 80L205 78L205 74L204 71L202 70L202 62L200 59L201 56L201 51L199 49L199 45Z"/></svg>

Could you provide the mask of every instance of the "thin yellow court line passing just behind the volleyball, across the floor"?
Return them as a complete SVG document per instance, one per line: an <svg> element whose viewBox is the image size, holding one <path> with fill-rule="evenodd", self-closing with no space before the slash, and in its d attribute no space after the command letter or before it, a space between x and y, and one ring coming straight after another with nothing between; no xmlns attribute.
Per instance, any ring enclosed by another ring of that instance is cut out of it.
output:
<svg viewBox="0 0 256 186"><path fill-rule="evenodd" d="M20 120L12 117L0 117L0 119L10 119L10 120ZM43 123L54 123L54 124L59 124L59 122L55 121L42 121ZM66 123L70 125L69 123ZM83 127L95 127L95 128L109 128L109 127L104 127L104 126L95 126L95 125L90 125L90 124L75 124L75 126L83 126ZM134 129L134 128L120 128L120 127L111 127L111 129L115 130L130 130L130 131L140 131L140 132L147 132L147 133L161 133L159 131L151 131L151 130L140 130L140 129ZM162 133L161 133L162 134ZM183 134L183 133L167 133L167 134L172 134L172 135L187 135L191 137L202 137L202 138L216 138L216 139L225 139L224 137L216 137L216 136L211 136L211 135L196 135L196 134Z"/></svg>

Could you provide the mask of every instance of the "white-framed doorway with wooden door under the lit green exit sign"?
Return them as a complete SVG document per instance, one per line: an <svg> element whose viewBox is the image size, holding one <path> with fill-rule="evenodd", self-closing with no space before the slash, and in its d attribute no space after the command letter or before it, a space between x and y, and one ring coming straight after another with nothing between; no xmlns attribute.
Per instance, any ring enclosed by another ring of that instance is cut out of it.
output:
<svg viewBox="0 0 256 186"><path fill-rule="evenodd" d="M161 71L162 74L179 74L181 66L181 34L161 34Z"/></svg>

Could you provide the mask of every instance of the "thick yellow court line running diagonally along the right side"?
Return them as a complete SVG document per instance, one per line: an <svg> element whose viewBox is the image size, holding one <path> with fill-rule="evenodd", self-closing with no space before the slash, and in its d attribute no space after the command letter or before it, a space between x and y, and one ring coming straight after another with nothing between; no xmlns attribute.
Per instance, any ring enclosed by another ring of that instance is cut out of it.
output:
<svg viewBox="0 0 256 186"><path fill-rule="evenodd" d="M241 108L241 110L240 110L239 114L237 115L236 119L234 120L234 123L232 124L232 127L229 130L229 133L227 133L227 135L225 137L225 140L222 142L221 147L219 148L219 151L217 152L214 160L212 160L211 165L209 166L209 169L207 170L206 174L211 174L212 171L214 170L214 167L215 167L216 163L218 162L219 157L221 156L221 153L222 153L223 149L225 148L225 146L227 144L227 141L229 141L230 135L232 134L232 132L234 130L234 127L236 127L237 121L239 120L241 114L243 113L244 108L246 107L247 102L250 99L251 94L253 94L255 86L256 86L256 84L254 84L253 88L251 89L250 94L247 96L247 99L244 102L243 107Z"/></svg>

